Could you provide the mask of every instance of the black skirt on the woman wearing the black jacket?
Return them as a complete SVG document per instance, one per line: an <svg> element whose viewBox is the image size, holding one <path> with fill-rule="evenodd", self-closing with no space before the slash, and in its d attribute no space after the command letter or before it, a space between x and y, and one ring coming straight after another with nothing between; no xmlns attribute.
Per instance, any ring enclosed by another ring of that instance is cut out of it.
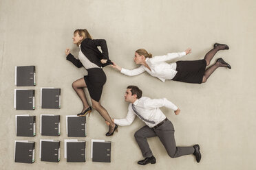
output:
<svg viewBox="0 0 256 170"><path fill-rule="evenodd" d="M88 88L89 95L95 101L100 101L103 86L107 81L107 77L100 68L87 69L88 75L85 75L85 84Z"/></svg>

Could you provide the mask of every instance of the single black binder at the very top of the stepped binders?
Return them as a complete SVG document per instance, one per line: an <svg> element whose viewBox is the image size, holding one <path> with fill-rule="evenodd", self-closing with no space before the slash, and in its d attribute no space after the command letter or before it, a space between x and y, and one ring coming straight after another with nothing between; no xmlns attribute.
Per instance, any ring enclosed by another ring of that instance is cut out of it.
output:
<svg viewBox="0 0 256 170"><path fill-rule="evenodd" d="M15 85L36 86L36 66L15 66Z"/></svg>

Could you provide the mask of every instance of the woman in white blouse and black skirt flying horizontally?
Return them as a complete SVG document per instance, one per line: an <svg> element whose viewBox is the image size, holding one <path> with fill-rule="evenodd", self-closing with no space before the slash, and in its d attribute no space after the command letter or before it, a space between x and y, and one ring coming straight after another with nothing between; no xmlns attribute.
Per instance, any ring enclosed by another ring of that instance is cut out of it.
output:
<svg viewBox="0 0 256 170"><path fill-rule="evenodd" d="M140 67L128 70L118 66L118 64L114 62L112 67L129 76L139 75L140 73L147 71L147 73L153 77L158 77L162 82L165 80L175 80L179 82L201 84L206 82L213 71L218 67L231 69L230 64L226 63L222 58L218 58L215 64L206 69L206 66L209 66L215 53L224 49L229 49L228 45L215 43L213 49L206 53L202 60L178 61L173 63L167 63L166 61L181 58L182 56L191 53L191 49L188 48L184 52L167 53L167 55L155 56L153 58L151 53L148 53L145 49L138 49L135 52L134 62L140 64Z"/></svg>

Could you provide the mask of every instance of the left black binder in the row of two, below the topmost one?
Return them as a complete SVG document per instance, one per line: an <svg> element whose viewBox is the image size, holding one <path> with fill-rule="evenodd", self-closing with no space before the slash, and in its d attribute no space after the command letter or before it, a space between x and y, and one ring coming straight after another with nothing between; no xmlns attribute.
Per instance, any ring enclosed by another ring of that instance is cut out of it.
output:
<svg viewBox="0 0 256 170"><path fill-rule="evenodd" d="M34 90L14 90L14 108L16 110L34 110Z"/></svg>

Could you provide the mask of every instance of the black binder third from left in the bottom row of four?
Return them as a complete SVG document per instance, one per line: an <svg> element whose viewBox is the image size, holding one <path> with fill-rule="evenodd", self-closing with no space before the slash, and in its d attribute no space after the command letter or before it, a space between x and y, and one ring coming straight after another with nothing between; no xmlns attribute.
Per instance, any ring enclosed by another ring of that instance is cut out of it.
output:
<svg viewBox="0 0 256 170"><path fill-rule="evenodd" d="M85 141L65 139L65 154L67 162L85 162Z"/></svg>

